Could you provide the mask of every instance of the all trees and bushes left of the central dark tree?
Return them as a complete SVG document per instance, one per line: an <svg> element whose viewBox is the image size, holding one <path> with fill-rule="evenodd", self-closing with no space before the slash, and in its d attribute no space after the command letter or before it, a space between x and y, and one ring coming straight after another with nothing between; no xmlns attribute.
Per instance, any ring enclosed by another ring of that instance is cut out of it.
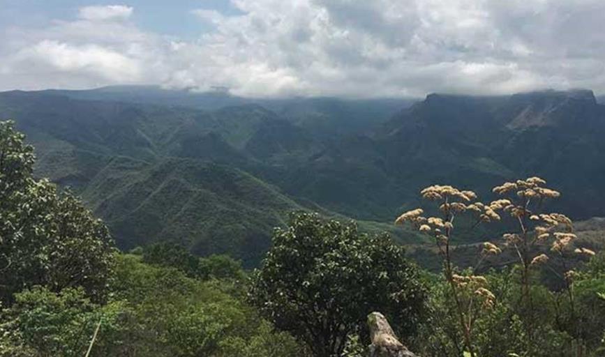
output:
<svg viewBox="0 0 605 357"><path fill-rule="evenodd" d="M0 123L0 356L84 356L93 335L90 356L300 354L244 301L239 262L170 244L119 254L78 199L33 179L23 139Z"/></svg>

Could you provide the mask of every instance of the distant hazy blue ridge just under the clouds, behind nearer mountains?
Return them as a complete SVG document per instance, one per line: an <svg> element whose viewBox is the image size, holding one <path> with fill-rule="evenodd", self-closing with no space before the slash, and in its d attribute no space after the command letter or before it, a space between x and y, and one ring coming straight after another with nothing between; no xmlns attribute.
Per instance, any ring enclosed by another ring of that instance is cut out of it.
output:
<svg viewBox="0 0 605 357"><path fill-rule="evenodd" d="M377 123L388 121L394 113L410 107L417 98L348 100L315 98L243 98L220 89L214 92L167 90L159 86L106 86L84 91L47 90L38 93L66 96L78 100L129 102L142 105L179 106L207 111L224 107L260 105L275 112L322 139L334 135L362 133Z"/></svg>

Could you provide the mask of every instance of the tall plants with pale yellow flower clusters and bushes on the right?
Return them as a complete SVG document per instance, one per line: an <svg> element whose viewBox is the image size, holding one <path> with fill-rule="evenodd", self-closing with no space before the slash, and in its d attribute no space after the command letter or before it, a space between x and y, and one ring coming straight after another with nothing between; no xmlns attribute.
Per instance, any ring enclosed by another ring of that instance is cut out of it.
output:
<svg viewBox="0 0 605 357"><path fill-rule="evenodd" d="M567 216L542 213L548 200L560 197L545 184L538 177L504 183L493 192L509 198L489 204L476 201L475 192L433 185L421 195L439 204L441 217L425 217L424 210L416 208L396 220L411 222L419 231L433 236L443 261L441 279L431 284L429 311L433 317L423 327L431 337L420 341L419 349L431 356L599 356L604 331L593 330L592 326L587 330L585 326L591 324L581 322L590 320L591 313L586 306L578 307L578 294L586 298L586 292L578 291L577 286L600 285L603 277L594 271L582 275L570 266L570 254L590 258L595 252L581 246L572 248L577 236ZM451 241L458 227L454 220L460 220L464 213L476 216L468 220L472 227L481 222L500 222L502 215L518 227L517 232L502 234L502 247L485 242L477 266L467 270L454 266L451 257ZM542 252L548 248L552 259ZM500 255L503 249L514 252L516 264L476 275L479 264ZM554 259L559 264L549 265ZM600 265L597 261L591 264ZM539 283L539 266L548 267L549 275L560 277L560 289L549 290ZM592 299L601 297L594 290L588 294ZM592 299L588 298L594 303ZM587 315L582 317L581 310Z"/></svg>

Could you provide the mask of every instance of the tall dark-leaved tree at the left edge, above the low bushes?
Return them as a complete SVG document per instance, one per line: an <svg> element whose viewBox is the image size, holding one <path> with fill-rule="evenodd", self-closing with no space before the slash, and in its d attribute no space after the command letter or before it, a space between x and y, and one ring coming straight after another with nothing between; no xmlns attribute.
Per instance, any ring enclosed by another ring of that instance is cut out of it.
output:
<svg viewBox="0 0 605 357"><path fill-rule="evenodd" d="M0 301L34 285L83 287L102 301L114 246L107 227L70 192L33 178L33 148L0 122Z"/></svg>

